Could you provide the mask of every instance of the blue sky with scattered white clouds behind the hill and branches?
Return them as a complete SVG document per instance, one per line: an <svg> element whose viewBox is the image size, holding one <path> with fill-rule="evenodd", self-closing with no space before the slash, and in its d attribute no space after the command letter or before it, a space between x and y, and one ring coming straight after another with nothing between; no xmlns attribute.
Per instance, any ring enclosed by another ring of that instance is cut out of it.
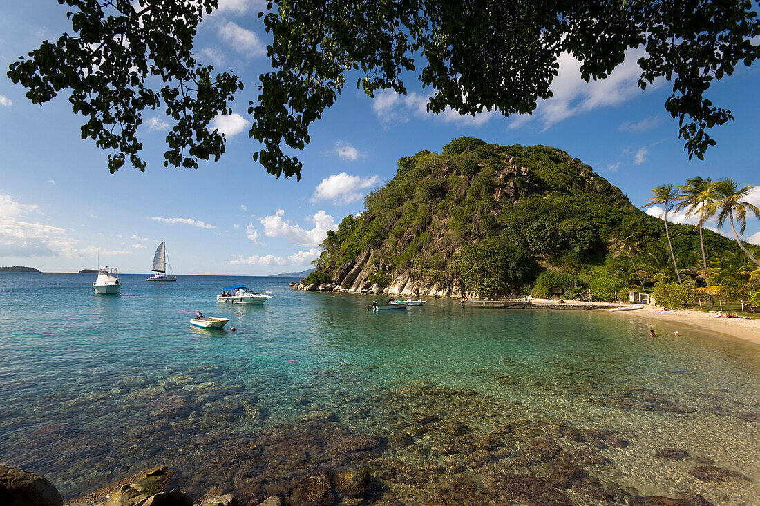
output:
<svg viewBox="0 0 760 506"><path fill-rule="evenodd" d="M65 6L48 0L9 2L0 14L0 67L56 40L66 25ZM399 96L383 91L371 99L349 81L337 103L312 125L312 141L298 154L302 179L270 176L252 160L249 100L258 75L268 71L267 38L258 0L220 0L220 9L198 28L201 62L233 71L245 89L233 115L213 128L226 135L226 153L198 169L163 167L169 119L146 112L139 135L147 169L126 164L110 174L107 153L82 141L82 117L67 95L44 106L31 104L5 71L0 77L0 265L47 272L75 272L101 265L148 273L154 250L166 240L176 274L268 275L304 270L318 255L328 229L363 209L363 198L391 179L397 160L420 150L440 152L467 135L508 145L546 144L591 165L641 206L651 189L682 185L693 176L760 185L760 65L739 66L714 84L708 97L731 109L736 121L714 128L705 160L689 160L678 139L678 122L663 104L671 85L636 86L638 52L603 81L585 83L572 55L559 59L553 98L532 115L476 116L426 112L429 90ZM749 195L760 206L760 188ZM658 216L661 209L649 208ZM673 220L689 221L679 213ZM729 232L730 230L724 230ZM748 220L744 239L760 244L760 223Z"/></svg>

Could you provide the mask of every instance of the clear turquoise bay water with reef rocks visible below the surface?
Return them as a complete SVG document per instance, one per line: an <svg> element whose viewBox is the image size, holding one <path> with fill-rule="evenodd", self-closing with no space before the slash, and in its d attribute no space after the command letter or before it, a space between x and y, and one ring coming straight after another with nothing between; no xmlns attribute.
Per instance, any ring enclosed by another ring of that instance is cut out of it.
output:
<svg viewBox="0 0 760 506"><path fill-rule="evenodd" d="M463 489L463 504L551 504L547 486L576 504L760 498L749 343L676 340L662 323L651 340L651 322L606 312L367 312L371 297L283 278L122 275L121 296L94 295L93 278L0 275L0 461L68 498L157 463L252 504L320 466L369 469L378 497L409 504ZM274 298L217 305L238 283ZM196 311L237 330L191 327ZM663 447L690 456L655 457ZM749 480L689 474L706 459Z"/></svg>

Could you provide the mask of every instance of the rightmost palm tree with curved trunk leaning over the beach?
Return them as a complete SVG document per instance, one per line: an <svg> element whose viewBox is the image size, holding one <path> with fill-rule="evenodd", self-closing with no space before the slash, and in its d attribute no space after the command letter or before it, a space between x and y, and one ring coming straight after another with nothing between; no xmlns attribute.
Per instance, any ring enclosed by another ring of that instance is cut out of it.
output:
<svg viewBox="0 0 760 506"><path fill-rule="evenodd" d="M698 211L701 212L701 216L707 217L711 215L717 216L717 226L723 226L728 218L731 224L731 231L733 236L736 237L736 242L739 244L739 248L753 261L760 266L760 261L752 256L749 249L742 244L742 239L739 239L739 233L736 232L736 226L734 222L739 223L739 232L744 233L744 229L747 226L747 211L749 210L755 217L760 220L760 209L755 204L751 204L742 200L746 198L754 186L745 186L744 188L738 188L736 181L733 179L721 179L711 183L710 190L705 194L706 204L702 205Z"/></svg>

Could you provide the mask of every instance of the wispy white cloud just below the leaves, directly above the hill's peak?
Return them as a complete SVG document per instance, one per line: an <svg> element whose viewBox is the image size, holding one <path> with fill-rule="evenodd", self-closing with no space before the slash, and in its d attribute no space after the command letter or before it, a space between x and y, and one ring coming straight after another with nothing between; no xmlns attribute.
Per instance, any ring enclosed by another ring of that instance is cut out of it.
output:
<svg viewBox="0 0 760 506"><path fill-rule="evenodd" d="M382 90L375 93L372 100L372 110L382 125L388 128L390 125L405 123L411 117L418 119L438 119L444 123L454 123L458 126L480 127L499 113L496 111L483 111L475 115L460 114L454 109L447 107L440 114L428 112L427 103L430 95L420 95L411 92L408 95L399 95L393 90Z"/></svg>

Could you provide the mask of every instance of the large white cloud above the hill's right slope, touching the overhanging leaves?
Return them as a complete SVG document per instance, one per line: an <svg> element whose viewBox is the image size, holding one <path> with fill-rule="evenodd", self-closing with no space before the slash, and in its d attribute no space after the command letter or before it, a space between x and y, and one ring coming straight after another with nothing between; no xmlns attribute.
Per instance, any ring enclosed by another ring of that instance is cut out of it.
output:
<svg viewBox="0 0 760 506"><path fill-rule="evenodd" d="M536 120L546 130L570 116L599 107L617 106L631 100L638 93L643 93L638 87L641 75L638 59L645 54L644 49L629 49L625 52L625 60L609 77L587 83L581 79L581 62L575 56L563 52L557 59L559 74L549 87L553 96L540 100L531 114L516 116L509 128L519 128ZM655 81L647 90L654 90L661 82L663 81Z"/></svg>

